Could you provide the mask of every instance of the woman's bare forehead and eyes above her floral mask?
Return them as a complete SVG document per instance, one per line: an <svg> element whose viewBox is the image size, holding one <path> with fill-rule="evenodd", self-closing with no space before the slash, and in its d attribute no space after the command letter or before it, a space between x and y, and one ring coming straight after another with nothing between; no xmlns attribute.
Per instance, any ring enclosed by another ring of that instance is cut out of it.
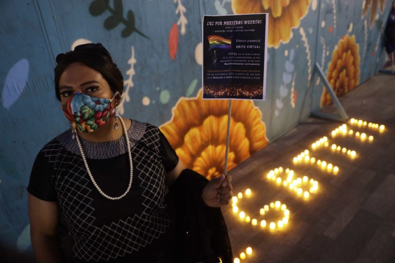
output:
<svg viewBox="0 0 395 263"><path fill-rule="evenodd" d="M76 92L95 98L113 97L109 83L101 73L79 62L71 63L60 76L59 93L62 104Z"/></svg>

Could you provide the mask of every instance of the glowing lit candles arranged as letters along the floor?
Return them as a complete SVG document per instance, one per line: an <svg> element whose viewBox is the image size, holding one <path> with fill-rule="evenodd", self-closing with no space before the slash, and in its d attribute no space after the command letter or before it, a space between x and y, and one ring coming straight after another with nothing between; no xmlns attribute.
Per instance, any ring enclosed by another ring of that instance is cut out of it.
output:
<svg viewBox="0 0 395 263"><path fill-rule="evenodd" d="M357 126L359 128L361 127L367 127L372 130L378 130L380 133L383 133L385 130L384 125L379 125L377 123L372 123L372 122L367 122L363 120L358 120L358 119L350 119L350 124L353 126ZM335 138L339 135L343 136L354 136L355 138L359 138L361 141L369 141L372 142L374 137L372 135L367 135L366 133L363 132L354 132L354 130L349 129L347 124L340 125L338 128L335 128L331 132L332 138ZM320 138L319 140L315 141L312 143L311 148L313 151L315 149L318 149L320 147L329 147L329 139L328 137L324 136ZM347 149L346 147L336 145L336 144L331 144L330 148L333 152L336 153L342 153L346 154L349 158L353 159L357 156L356 151ZM329 163L325 160L316 160L315 157L310 156L310 151L308 149L305 149L303 152L301 152L298 156L293 158L293 163L298 164L298 163L310 163L310 164L316 164L320 166L322 169L332 172L333 174L337 174L339 172L339 167L336 165L333 165L332 163ZM285 175L284 175L285 172ZM268 180L274 181L278 185L282 185L284 187L288 187L289 190L295 192L298 196L303 196L304 199L308 199L311 194L317 193L318 191L318 181L314 179L309 179L308 176L304 175L302 177L298 177L295 175L295 172L291 170L290 168L286 168L284 170L283 167L277 167L270 172L267 173L266 178ZM250 217L246 212L241 211L239 205L240 205L240 200L243 197L250 197L252 196L252 191L250 189L246 189L244 191L244 194L242 192L238 193L237 196L232 197L232 212L237 214L239 218L247 223L251 223L252 226L258 226L258 219L257 218L252 218ZM289 223L290 219L290 210L287 209L286 204L282 204L280 201L275 201L271 202L270 204L265 204L262 208L259 209L259 214L262 216L267 215L270 213L270 211L282 211L282 215L279 220L276 221L271 221L267 223L265 219L262 219L259 221L259 225L261 229L266 229L268 226L268 229L270 230L276 230L276 229L283 229L286 224ZM251 256L253 254L253 249L251 247L248 247L245 252L241 252L239 257L234 258L234 263L240 263L241 259L246 259L247 256Z"/></svg>

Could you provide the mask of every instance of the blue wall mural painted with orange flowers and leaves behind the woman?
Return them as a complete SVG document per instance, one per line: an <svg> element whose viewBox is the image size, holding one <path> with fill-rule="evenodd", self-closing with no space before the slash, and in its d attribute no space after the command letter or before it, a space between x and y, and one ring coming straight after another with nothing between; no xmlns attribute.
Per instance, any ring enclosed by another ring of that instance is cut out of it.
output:
<svg viewBox="0 0 395 263"><path fill-rule="evenodd" d="M119 113L157 125L188 167L224 171L227 101L202 99L204 14L270 14L265 101L235 101L228 168L379 71L390 1L2 1L0 242L31 251L26 186L39 149L68 128L55 98L58 53L102 43L124 77ZM78 8L75 8L77 7Z"/></svg>

